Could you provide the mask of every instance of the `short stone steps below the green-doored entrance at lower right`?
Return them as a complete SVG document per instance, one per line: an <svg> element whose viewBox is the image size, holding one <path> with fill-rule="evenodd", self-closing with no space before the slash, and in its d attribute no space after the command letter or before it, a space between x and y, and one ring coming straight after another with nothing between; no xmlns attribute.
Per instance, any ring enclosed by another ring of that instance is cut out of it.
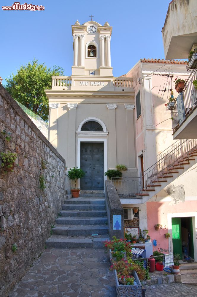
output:
<svg viewBox="0 0 197 297"><path fill-rule="evenodd" d="M182 284L197 286L197 262L181 263L180 274Z"/></svg>

